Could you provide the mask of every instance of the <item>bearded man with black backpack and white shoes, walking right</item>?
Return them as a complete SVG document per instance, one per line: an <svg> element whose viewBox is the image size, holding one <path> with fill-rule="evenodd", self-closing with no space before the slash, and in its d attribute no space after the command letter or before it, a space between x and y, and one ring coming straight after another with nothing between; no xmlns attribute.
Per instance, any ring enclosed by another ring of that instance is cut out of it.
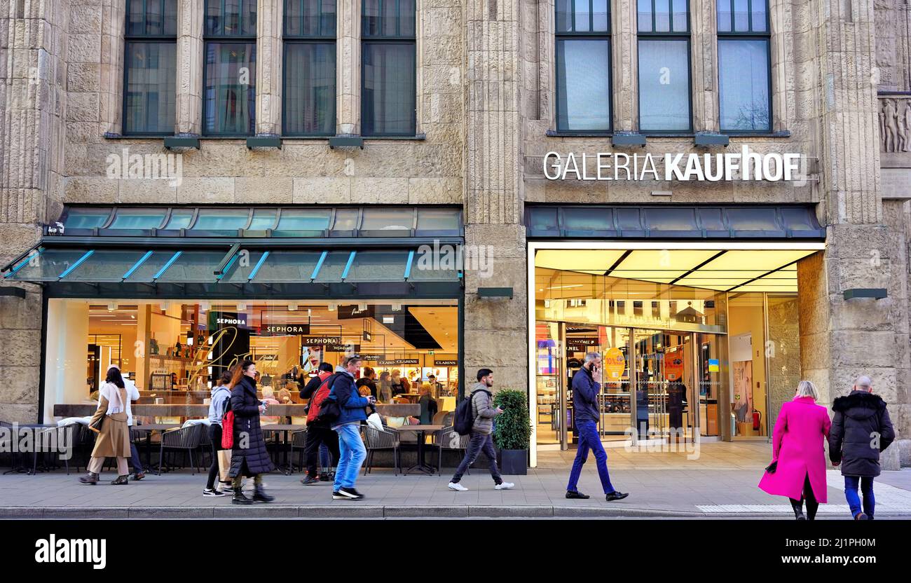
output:
<svg viewBox="0 0 911 583"><path fill-rule="evenodd" d="M471 435L471 441L468 442L468 449L465 457L462 458L462 463L458 465L453 479L449 481L450 490L465 492L468 489L459 482L468 466L474 463L481 451L484 451L484 455L490 460L490 476L493 476L496 484L494 489L508 490L516 486L511 482L504 482L496 467L494 417L503 413L503 409L492 404L493 395L490 394L489 389L493 385L494 372L489 368L482 368L477 372L477 384L474 391L456 407L455 430L461 435Z"/></svg>

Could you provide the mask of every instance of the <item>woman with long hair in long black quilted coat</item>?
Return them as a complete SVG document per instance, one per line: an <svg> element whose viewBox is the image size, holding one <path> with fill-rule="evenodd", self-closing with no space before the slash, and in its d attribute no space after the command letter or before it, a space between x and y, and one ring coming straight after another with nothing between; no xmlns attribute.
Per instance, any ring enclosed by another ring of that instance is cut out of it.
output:
<svg viewBox="0 0 911 583"><path fill-rule="evenodd" d="M231 449L230 471L231 486L234 489L233 504L252 504L271 502L274 496L268 496L262 489L262 475L268 474L275 465L266 450L266 441L262 437L260 414L266 410L256 396L256 364L250 360L243 361L234 371L231 378L230 409L234 412L234 447ZM253 497L248 498L241 492L241 477L253 478Z"/></svg>

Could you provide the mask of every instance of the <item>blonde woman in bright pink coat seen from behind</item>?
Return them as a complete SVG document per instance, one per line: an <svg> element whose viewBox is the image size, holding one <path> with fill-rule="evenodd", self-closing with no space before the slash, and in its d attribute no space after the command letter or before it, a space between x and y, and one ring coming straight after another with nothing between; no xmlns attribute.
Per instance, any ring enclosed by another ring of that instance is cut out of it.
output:
<svg viewBox="0 0 911 583"><path fill-rule="evenodd" d="M814 384L801 381L793 400L782 404L772 437L777 467L759 482L769 494L791 498L797 520L813 520L819 503L826 502L824 443L832 422L825 407L816 404L818 398Z"/></svg>

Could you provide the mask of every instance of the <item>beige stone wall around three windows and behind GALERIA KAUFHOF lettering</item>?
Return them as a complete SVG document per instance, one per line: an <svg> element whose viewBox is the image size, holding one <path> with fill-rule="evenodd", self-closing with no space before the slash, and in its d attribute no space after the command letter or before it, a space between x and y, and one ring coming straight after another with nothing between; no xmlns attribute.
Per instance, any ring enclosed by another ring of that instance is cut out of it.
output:
<svg viewBox="0 0 911 583"><path fill-rule="evenodd" d="M526 92L532 101L526 109L537 111L537 118L525 119L523 164L526 173L524 199L529 202L571 203L677 203L698 202L728 203L786 203L816 202L821 198L818 186L818 164L814 143L817 132L813 125L815 116L814 76L811 65L805 60L805 51L795 48L795 43L810 42L810 7L806 2L772 0L772 97L773 131L788 132L788 137L731 138L727 151L740 151L745 145L752 151L798 152L804 155L804 167L810 179L792 184L667 183L644 180L640 182L585 183L574 180L553 181L544 178L542 160L551 150L561 153L583 152L594 154L610 152L610 138L547 137L547 132L557 128L556 104L553 103L555 83L554 3L541 0L537 3L537 28L525 29L524 42L534 43L537 58L524 63L522 70L535 71L540 77L541 88ZM637 89L637 36L635 0L611 2L611 51L612 51L612 111L616 131L636 131L639 128L639 95ZM715 35L715 3L707 0L691 2L691 104L694 131L718 131L718 64L717 36ZM523 58L526 58L523 56ZM801 93L803 92L803 97ZM629 154L652 153L663 158L665 152L705 153L723 151L717 148L696 148L693 138L648 138L645 148L620 148ZM592 167L593 168L593 167ZM653 190L671 191L670 197L656 198Z"/></svg>

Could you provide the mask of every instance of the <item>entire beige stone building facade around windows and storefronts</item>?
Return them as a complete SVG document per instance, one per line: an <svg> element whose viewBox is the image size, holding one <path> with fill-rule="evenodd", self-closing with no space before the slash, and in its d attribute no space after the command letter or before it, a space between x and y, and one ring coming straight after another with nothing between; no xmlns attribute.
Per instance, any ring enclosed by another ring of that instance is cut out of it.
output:
<svg viewBox="0 0 911 583"><path fill-rule="evenodd" d="M454 204L468 245L492 245L492 277L466 272L465 370L489 366L501 385L528 378L527 204L813 205L826 249L798 264L803 376L831 403L857 374L890 403L911 465L911 9L907 0L771 0L771 128L730 134L730 151L799 152L791 183L545 179L548 151L625 151L610 135L640 132L637 3L612 0L612 132L557 126L554 0L417 0L416 132L329 148L284 138L249 149L202 138L183 154L183 179L110 179L107 157L164 151L161 138L123 138L125 2L0 0L0 259L12 261L64 205ZM202 131L203 0L180 0L175 135ZM281 134L281 0L259 0L256 131ZM702 153L717 135L716 3L691 0L691 130L652 134L638 153ZM361 133L360 0L339 0L336 133ZM607 148L607 149L606 149ZM723 151L723 150L719 150ZM654 192L666 193L656 199ZM5 283L5 286L14 285ZM0 297L0 418L34 421L42 354L40 287ZM479 287L512 289L478 298ZM852 302L852 288L887 297ZM888 464L898 465L899 448Z"/></svg>

